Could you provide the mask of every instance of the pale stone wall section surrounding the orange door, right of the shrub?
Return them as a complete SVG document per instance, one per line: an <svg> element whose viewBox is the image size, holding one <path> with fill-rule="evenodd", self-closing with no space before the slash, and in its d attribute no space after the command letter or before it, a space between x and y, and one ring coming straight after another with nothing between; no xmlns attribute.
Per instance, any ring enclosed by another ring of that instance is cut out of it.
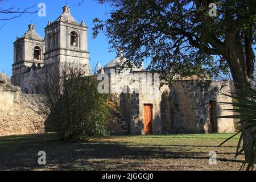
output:
<svg viewBox="0 0 256 182"><path fill-rule="evenodd" d="M119 115L117 121L113 121L118 133L144 134L144 104L152 105L152 134L162 133L162 121L160 119L161 91L159 80L150 72L133 72L123 75L109 73L109 91L119 97ZM124 92L124 93L122 93ZM127 122L127 128L123 122ZM121 123L122 126L118 126ZM113 128L113 127L112 127Z"/></svg>

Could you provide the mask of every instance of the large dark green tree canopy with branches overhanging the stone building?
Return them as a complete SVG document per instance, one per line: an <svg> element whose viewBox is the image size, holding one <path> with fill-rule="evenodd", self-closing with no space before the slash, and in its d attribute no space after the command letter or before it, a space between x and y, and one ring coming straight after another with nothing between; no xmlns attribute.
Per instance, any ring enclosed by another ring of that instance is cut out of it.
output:
<svg viewBox="0 0 256 182"><path fill-rule="evenodd" d="M113 49L129 63L181 76L218 76L230 69L233 80L252 86L255 55L255 1L99 0L113 10L94 19L94 36L104 30ZM210 7L209 7L210 5ZM171 71L171 72L170 72Z"/></svg>

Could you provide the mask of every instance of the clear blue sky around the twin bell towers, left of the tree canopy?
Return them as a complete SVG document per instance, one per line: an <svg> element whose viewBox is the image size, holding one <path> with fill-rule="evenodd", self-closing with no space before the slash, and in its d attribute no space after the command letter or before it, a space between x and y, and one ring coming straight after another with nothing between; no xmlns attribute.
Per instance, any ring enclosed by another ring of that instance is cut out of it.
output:
<svg viewBox="0 0 256 182"><path fill-rule="evenodd" d="M89 27L88 30L88 51L90 52L90 65L96 65L97 61L100 61L101 65L104 66L109 61L113 60L116 56L115 52L109 52L108 38L101 32L96 39L92 38L93 19L106 19L109 13L109 7L107 5L99 5L94 0L84 0L81 6L76 6L77 2L81 0L68 0L67 4L71 7L71 14L81 23L84 19L86 25ZM35 14L24 14L19 18L0 21L0 72L3 70L11 71L11 64L13 64L13 42L16 36L22 36L28 30L28 24L35 24L36 32L44 37L44 28L47 25L48 20L53 22L57 19L61 12L62 7L65 5L66 0L9 0L6 3L1 4L3 7L19 7L20 9L35 6L33 10L38 10L38 4L46 4L46 17L39 17ZM10 16L1 16L2 18L8 18Z"/></svg>

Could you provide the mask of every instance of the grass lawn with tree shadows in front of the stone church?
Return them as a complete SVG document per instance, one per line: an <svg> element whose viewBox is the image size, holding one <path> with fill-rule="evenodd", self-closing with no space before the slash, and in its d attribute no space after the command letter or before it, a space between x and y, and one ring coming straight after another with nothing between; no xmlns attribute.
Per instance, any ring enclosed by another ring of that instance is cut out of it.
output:
<svg viewBox="0 0 256 182"><path fill-rule="evenodd" d="M1 170L238 170L238 137L231 134L150 135L59 142L54 134L0 137ZM37 155L46 152L46 166ZM209 151L217 165L209 165Z"/></svg>

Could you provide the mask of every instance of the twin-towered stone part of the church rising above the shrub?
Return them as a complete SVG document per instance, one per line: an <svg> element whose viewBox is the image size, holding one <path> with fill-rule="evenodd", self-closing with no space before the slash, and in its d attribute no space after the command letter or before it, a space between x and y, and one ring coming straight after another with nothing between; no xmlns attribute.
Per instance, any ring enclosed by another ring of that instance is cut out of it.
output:
<svg viewBox="0 0 256 182"><path fill-rule="evenodd" d="M29 24L28 31L14 42L12 84L24 93L38 93L38 77L65 63L76 64L85 76L90 75L87 34L84 21L77 23L68 6L54 22L48 22L44 39Z"/></svg>

